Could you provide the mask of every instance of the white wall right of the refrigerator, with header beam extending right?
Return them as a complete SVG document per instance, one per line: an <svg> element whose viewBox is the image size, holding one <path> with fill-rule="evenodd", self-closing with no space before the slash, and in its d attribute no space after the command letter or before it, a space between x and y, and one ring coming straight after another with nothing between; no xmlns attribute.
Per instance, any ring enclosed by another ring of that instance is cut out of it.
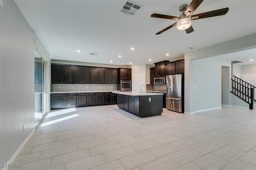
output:
<svg viewBox="0 0 256 170"><path fill-rule="evenodd" d="M221 105L221 92L218 91L218 87L221 87L221 65L223 61L216 61L215 59L210 59L214 56L224 55L227 53L232 53L236 51L243 51L245 49L252 49L256 47L256 34L252 34L250 36L245 36L242 38L238 38L235 40L231 40L228 42L212 45L210 47L206 47L203 49L198 49L195 51L191 51L185 53L185 82L184 82L184 109L185 113L192 114L198 110L214 109L218 108ZM203 60L204 58L208 58L209 60ZM197 60L195 60L197 59ZM200 61L199 59L202 59ZM212 62L212 63L211 63ZM202 65L200 65L202 64ZM214 66L215 65L215 66ZM207 67L208 66L208 67ZM200 69L200 68L203 68ZM203 71L203 73L199 73L197 70ZM205 72L205 73L204 73ZM195 91L194 87L202 84L196 85L195 78L200 78L199 83L208 83L206 81L202 81L201 79L206 79L206 77L212 77L214 81L212 81L212 85L210 85L210 90L216 92L213 94L210 92L211 98L205 96L204 93L207 92L207 89L202 88L201 91ZM216 89L217 88L217 89ZM220 89L219 89L220 90ZM202 93L204 91L204 93ZM202 103L198 102L201 99L206 97L207 101L202 101ZM205 102L209 101L209 105ZM207 106L208 105L208 106Z"/></svg>

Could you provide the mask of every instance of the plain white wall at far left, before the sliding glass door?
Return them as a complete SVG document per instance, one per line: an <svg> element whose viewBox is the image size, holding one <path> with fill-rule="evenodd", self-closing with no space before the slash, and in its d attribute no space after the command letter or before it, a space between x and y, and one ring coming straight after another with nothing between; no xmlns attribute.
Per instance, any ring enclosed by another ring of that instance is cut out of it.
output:
<svg viewBox="0 0 256 170"><path fill-rule="evenodd" d="M34 130L34 91L31 89L34 89L36 35L13 0L4 1L0 22L0 154L1 163L7 163Z"/></svg>

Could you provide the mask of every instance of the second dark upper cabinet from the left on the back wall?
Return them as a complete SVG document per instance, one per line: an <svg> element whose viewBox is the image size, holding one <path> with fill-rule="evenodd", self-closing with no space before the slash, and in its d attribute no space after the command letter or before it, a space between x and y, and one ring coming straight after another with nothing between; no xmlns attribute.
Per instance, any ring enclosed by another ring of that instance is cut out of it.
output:
<svg viewBox="0 0 256 170"><path fill-rule="evenodd" d="M74 66L74 84L89 84L90 83L90 67Z"/></svg>

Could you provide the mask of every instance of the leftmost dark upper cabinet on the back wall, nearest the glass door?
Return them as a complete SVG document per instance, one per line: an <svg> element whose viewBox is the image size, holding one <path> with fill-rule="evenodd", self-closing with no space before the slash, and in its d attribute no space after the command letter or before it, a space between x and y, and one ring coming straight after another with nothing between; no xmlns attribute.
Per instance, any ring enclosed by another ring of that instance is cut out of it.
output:
<svg viewBox="0 0 256 170"><path fill-rule="evenodd" d="M73 83L73 66L52 64L51 69L52 84Z"/></svg>

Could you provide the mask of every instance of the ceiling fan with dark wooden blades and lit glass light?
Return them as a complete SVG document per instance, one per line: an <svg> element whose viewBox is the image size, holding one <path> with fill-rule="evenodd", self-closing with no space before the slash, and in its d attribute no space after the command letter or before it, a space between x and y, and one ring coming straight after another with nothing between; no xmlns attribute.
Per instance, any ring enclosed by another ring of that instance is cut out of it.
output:
<svg viewBox="0 0 256 170"><path fill-rule="evenodd" d="M192 2L189 4L189 6L187 4L181 5L179 10L180 10L180 12L182 12L182 14L179 17L163 15L163 14L152 14L151 17L154 17L154 18L178 20L176 23L168 26L167 28L164 28L164 30L161 30L160 32L158 32L156 34L161 34L176 25L177 25L178 30L185 30L186 33L189 34L194 31L193 27L191 26L191 20L198 20L198 19L202 19L202 18L221 16L221 15L225 15L228 12L228 8L223 8L223 9L219 9L219 10L204 12L201 14L191 15L202 2L203 2L203 0L192 0Z"/></svg>

